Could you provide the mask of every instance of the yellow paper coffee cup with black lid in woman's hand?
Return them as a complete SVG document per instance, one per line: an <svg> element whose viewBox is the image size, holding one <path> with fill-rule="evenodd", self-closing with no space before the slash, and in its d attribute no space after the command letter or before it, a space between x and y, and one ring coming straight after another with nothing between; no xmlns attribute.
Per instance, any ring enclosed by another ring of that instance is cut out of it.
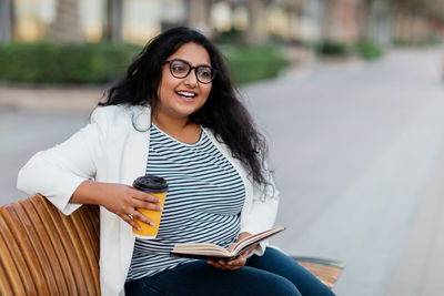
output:
<svg viewBox="0 0 444 296"><path fill-rule="evenodd" d="M157 205L160 205L162 208L165 204L165 197L167 197L167 192L168 192L168 183L167 180L164 180L161 176L154 176L154 175L145 175L145 176L140 176L138 177L132 186L137 190L147 192L153 196L157 196L161 200L160 203L157 203ZM160 221L162 217L162 212L159 211L152 211L152 210L147 210L147 208L138 208L142 215L149 217L152 222L154 222L154 225L151 226L147 223L143 223L139 220L135 220L135 223L140 225L142 228L141 231L138 231L135 228L132 228L132 232L137 237L149 239L149 238L155 238L159 232L159 225Z"/></svg>

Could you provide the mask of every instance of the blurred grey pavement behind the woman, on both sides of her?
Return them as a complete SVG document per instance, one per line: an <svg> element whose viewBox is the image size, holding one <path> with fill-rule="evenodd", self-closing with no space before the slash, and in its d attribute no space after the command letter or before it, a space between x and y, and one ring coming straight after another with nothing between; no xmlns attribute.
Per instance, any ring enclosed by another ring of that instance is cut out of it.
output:
<svg viewBox="0 0 444 296"><path fill-rule="evenodd" d="M242 90L270 141L281 191L278 224L287 229L273 243L345 261L337 295L442 294L440 58L438 50L394 51ZM0 88L1 203L23 197L14 190L20 166L84 125L101 92Z"/></svg>

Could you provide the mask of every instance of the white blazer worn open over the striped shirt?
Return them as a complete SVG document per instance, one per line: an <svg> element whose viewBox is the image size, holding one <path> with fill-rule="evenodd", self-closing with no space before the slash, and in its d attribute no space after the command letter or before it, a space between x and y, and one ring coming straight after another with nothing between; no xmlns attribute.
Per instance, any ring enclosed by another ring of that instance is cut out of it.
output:
<svg viewBox="0 0 444 296"><path fill-rule="evenodd" d="M150 144L150 109L145 106L104 106L91 115L91 123L62 144L38 152L20 170L18 188L30 195L41 193L63 214L79 208L70 204L72 193L85 180L121 183L145 174ZM137 129L134 129L134 126ZM271 228L278 212L279 192L268 171L271 185L259 188L229 147L204 130L214 145L240 173L245 185L241 212L241 232L259 233ZM266 169L264 169L266 170ZM262 255L266 243L255 254ZM131 226L100 206L100 286L104 296L124 295L134 236Z"/></svg>

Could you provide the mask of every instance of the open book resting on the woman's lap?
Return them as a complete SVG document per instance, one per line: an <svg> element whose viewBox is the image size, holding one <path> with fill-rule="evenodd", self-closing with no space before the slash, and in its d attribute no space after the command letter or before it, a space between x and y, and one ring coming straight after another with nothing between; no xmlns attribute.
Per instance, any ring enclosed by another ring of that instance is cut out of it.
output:
<svg viewBox="0 0 444 296"><path fill-rule="evenodd" d="M214 244L179 244L174 246L173 251L171 251L170 254L176 257L198 258L198 259L211 259L211 258L233 259L239 255L241 255L244 251L252 247L253 245L284 229L285 227L276 227L244 237L238 243L235 243L235 246L232 252L229 252L226 248L223 248Z"/></svg>

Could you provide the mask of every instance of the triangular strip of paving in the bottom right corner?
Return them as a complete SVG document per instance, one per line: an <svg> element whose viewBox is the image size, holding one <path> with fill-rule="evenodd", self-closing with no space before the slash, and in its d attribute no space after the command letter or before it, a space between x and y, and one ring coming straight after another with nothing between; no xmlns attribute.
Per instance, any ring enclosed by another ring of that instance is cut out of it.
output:
<svg viewBox="0 0 444 296"><path fill-rule="evenodd" d="M417 213L389 296L444 294L444 151L422 192Z"/></svg>

